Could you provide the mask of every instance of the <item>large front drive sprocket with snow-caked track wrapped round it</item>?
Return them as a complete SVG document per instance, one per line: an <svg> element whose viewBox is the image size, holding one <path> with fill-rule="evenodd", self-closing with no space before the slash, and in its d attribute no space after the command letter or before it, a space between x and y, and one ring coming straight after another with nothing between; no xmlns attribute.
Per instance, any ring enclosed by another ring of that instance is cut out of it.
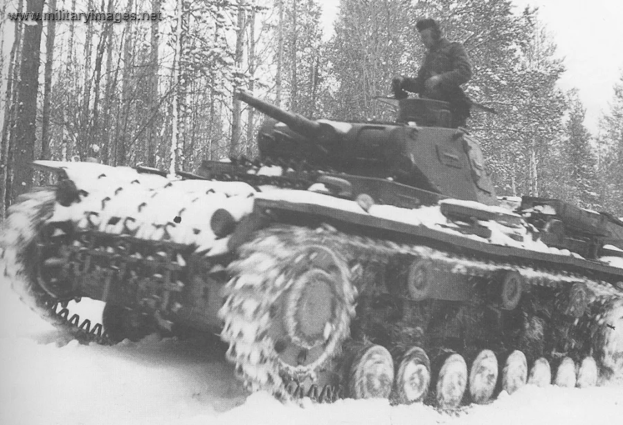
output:
<svg viewBox="0 0 623 425"><path fill-rule="evenodd" d="M250 390L315 381L350 335L356 288L337 235L271 227L229 267L222 338Z"/></svg>

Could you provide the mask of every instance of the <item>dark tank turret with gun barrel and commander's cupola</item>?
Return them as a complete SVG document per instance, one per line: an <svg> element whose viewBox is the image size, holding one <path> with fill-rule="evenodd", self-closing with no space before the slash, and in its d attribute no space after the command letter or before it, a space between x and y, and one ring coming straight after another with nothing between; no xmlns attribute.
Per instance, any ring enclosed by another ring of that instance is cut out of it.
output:
<svg viewBox="0 0 623 425"><path fill-rule="evenodd" d="M397 122L309 120L240 92L268 115L258 133L262 158L305 160L319 168L396 182L444 196L496 205L480 146L449 128L444 102L401 100Z"/></svg>

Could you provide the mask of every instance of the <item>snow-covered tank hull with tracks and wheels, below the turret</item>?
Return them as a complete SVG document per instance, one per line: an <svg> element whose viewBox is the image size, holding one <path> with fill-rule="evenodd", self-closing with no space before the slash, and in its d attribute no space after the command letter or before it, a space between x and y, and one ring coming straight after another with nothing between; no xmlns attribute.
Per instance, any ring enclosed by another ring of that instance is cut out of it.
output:
<svg viewBox="0 0 623 425"><path fill-rule="evenodd" d="M543 358L623 372L623 267L534 240L521 214L455 200L379 205L278 177L258 187L44 165L63 180L11 207L3 269L78 339L220 332L251 390L447 408L469 399L465 370L489 352L496 390ZM81 297L106 303L104 323L71 314ZM425 395L404 390L416 375L429 377Z"/></svg>

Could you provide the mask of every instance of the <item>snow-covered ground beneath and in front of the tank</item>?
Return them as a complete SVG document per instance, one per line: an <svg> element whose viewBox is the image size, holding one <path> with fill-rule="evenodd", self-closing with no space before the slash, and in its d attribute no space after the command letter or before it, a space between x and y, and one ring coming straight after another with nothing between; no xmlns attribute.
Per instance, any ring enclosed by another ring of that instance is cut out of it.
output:
<svg viewBox="0 0 623 425"><path fill-rule="evenodd" d="M0 424L623 424L623 382L525 386L488 406L440 413L386 400L285 406L248 395L223 352L152 336L105 347L67 341L0 281Z"/></svg>

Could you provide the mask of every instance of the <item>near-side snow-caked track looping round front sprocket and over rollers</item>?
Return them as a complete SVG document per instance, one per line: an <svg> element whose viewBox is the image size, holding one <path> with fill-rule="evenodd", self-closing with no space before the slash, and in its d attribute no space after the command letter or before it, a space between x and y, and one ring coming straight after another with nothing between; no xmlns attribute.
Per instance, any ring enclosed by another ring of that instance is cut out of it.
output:
<svg viewBox="0 0 623 425"><path fill-rule="evenodd" d="M345 264L351 270L360 270L359 276L354 278L354 285L350 290L352 294L356 292L365 294L369 290L366 286L374 285L373 282L366 281L366 274L361 272L365 267L374 263L387 265L390 261L410 263L417 259L424 259L430 261L437 270L462 275L468 279L479 278L487 281L495 281L499 278L500 272L517 272L530 287L541 292L545 291L554 297L553 305L520 305L519 308L529 319L526 321L529 324L528 327L533 328L525 332L528 336L522 340L524 350L532 349L530 345L534 343L532 341L534 338L530 337L531 331L536 332L539 337L539 325L542 324L542 319L536 317L536 312L541 309L546 310L550 315L550 320L556 323L566 323L566 330L573 327L576 332L572 337L568 334L552 334L549 337L541 335L541 340L543 338L554 339L555 341L546 342L551 346L562 346L574 352L577 357L580 354L594 354L599 359L602 375L611 375L622 369L623 355L620 348L617 348L617 343L620 343L617 342L617 338L621 337L617 337L614 334L615 331L609 330L605 325L607 320L616 320L618 325L623 325L623 296L611 283L582 274L561 272L553 265L552 267L535 267L520 260L500 263L477 252L460 254L422 245L395 243L392 240L345 234L327 225L318 229L278 226L258 232L255 240L240 249L240 260L229 268L231 274L239 277L233 278L228 283L228 300L221 311L226 322L222 337L231 346L228 356L231 361L235 361L241 379L251 390L269 390L282 397L288 393L285 384L289 381L305 379L313 381L316 378L313 368L294 370L279 361L278 354L272 347L274 341L271 341L267 332L271 302L287 290L287 285L274 283L284 274L294 249L306 241L335 247L336 252L343 256ZM588 313L584 314L581 319L569 319L563 317L561 313L574 283L583 283L588 288ZM270 296L267 298L265 294L270 294ZM263 300L261 303L251 302L251 300L259 301L260 299ZM351 305L347 305L350 308ZM392 332L390 328L384 331ZM622 331L618 330L619 333ZM365 337L364 332L363 339ZM347 334L340 335L339 339L346 341ZM581 346L581 341L590 341L591 345L596 348ZM399 346L399 339L392 341L392 345ZM327 355L325 369L336 369L336 366L331 363L335 363L335 359L339 358L338 348L336 346L335 350ZM404 352L404 348L398 352ZM505 350L510 348L504 347ZM542 352L543 348L536 347L532 350L536 353L532 356L532 360L538 356L539 350ZM563 353L561 357L562 355ZM334 359L329 359L329 357L334 357Z"/></svg>

